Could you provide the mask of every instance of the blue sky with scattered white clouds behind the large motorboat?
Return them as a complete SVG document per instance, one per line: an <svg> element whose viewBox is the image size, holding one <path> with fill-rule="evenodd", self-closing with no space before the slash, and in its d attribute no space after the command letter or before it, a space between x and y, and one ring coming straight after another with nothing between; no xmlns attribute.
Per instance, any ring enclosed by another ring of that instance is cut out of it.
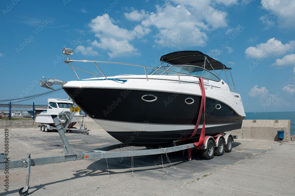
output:
<svg viewBox="0 0 295 196"><path fill-rule="evenodd" d="M64 47L73 48L73 60L146 66L165 53L198 50L232 67L246 112L294 111L294 0L1 0L0 7L0 100L48 91L39 86L42 76L76 80ZM102 68L108 76L142 74ZM68 96L33 101L47 98Z"/></svg>

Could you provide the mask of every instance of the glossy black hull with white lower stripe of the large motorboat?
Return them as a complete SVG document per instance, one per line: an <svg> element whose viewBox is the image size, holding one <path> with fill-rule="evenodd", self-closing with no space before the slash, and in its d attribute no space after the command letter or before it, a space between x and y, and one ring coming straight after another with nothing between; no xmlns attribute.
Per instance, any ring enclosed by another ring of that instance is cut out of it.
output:
<svg viewBox="0 0 295 196"><path fill-rule="evenodd" d="M200 95L185 93L115 88L63 87L63 89L94 121L107 123L107 126L104 127L102 124L101 126L111 136L133 146L158 145L190 137L196 125L201 103ZM142 100L142 96L148 94L155 95L157 100L153 102ZM186 98L194 99L194 103L186 103ZM216 108L217 104L221 106L220 109ZM201 116L200 125L203 124L204 116L207 135L240 129L245 118L230 106L212 98L206 98L206 110ZM145 124L163 126L147 126L143 130L121 129L119 126L109 129L113 122L132 123L138 126ZM173 126L178 126L180 129L173 129ZM151 130L151 127L159 129ZM199 126L195 137L199 137L200 133Z"/></svg>

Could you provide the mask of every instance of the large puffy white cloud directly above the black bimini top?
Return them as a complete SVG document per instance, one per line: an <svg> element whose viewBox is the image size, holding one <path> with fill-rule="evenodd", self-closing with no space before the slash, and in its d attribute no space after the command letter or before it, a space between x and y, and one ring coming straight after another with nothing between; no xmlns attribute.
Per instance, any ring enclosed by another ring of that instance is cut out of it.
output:
<svg viewBox="0 0 295 196"><path fill-rule="evenodd" d="M207 29L203 22L181 5L173 7L167 4L164 7L156 6L157 11L150 13L142 21L146 28L155 26L159 33L155 36L155 44L169 47L174 44L177 48L206 45L207 34L201 29Z"/></svg>

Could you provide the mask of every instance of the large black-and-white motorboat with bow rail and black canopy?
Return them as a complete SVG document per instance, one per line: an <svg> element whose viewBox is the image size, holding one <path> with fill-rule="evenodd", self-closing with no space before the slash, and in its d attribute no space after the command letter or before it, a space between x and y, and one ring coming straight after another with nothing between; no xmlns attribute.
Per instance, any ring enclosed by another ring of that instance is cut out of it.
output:
<svg viewBox="0 0 295 196"><path fill-rule="evenodd" d="M73 50L64 48L63 53L71 55ZM204 81L206 93L206 110L200 116L201 123L205 117L205 134L216 135L241 128L245 118L241 97L217 75L217 71L226 72L231 68L199 51L173 52L162 56L160 61L158 68L134 65L143 67L144 75L107 77L97 64L114 62L79 61L68 57L65 61L68 65L92 62L102 75L88 72L95 77L80 79L75 70L81 69L70 65L78 80L66 82L62 88L107 133L128 145L172 144L189 138L201 106L199 78ZM153 69L148 73L148 68ZM191 139L198 138L201 129L199 125Z"/></svg>

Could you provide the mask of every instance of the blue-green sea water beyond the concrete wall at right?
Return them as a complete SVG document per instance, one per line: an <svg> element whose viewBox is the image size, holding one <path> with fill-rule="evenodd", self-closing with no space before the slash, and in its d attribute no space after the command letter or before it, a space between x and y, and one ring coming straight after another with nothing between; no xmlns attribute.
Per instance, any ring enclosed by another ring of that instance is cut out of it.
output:
<svg viewBox="0 0 295 196"><path fill-rule="evenodd" d="M246 112L245 120L291 120L295 125L295 112ZM295 135L294 125L290 125L290 135Z"/></svg>

